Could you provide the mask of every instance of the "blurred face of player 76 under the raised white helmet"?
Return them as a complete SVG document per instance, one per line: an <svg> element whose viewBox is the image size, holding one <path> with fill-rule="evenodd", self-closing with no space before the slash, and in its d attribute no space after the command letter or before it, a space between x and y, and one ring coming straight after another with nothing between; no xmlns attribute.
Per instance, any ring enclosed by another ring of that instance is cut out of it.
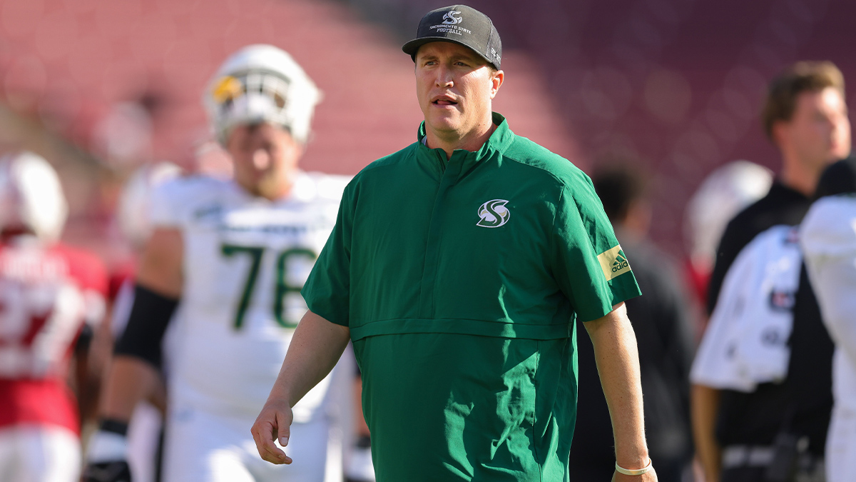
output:
<svg viewBox="0 0 856 482"><path fill-rule="evenodd" d="M288 193L303 146L288 130L271 124L239 125L226 150L235 162L235 181L255 196L276 199Z"/></svg>

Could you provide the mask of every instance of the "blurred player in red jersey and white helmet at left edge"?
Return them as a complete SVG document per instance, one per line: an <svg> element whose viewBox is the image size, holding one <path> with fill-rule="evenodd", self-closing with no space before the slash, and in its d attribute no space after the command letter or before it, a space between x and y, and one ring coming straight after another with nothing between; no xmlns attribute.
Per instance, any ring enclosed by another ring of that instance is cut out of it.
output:
<svg viewBox="0 0 856 482"><path fill-rule="evenodd" d="M97 257L57 242L67 212L44 159L0 159L0 480L80 477L80 409L68 371L74 356L75 374L86 375L107 275Z"/></svg>

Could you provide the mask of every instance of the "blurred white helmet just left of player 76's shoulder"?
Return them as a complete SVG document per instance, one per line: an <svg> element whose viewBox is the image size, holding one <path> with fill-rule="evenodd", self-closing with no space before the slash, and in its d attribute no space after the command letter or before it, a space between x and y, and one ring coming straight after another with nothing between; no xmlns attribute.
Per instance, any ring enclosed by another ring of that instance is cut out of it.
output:
<svg viewBox="0 0 856 482"><path fill-rule="evenodd" d="M152 191L180 175L181 167L169 162L146 164L134 171L122 186L116 208L116 222L122 236L134 247L141 248L152 234L148 215Z"/></svg>

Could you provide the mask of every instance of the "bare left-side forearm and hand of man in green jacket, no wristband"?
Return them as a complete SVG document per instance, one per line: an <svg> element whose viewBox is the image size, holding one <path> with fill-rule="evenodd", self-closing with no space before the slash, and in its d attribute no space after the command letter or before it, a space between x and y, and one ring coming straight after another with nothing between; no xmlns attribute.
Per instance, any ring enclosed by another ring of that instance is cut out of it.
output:
<svg viewBox="0 0 856 482"><path fill-rule="evenodd" d="M288 445L291 407L333 370L350 339L348 327L306 311L294 330L265 407L253 424L253 439L262 459L275 464L291 463L291 457L276 447L274 440L278 439L282 447Z"/></svg>

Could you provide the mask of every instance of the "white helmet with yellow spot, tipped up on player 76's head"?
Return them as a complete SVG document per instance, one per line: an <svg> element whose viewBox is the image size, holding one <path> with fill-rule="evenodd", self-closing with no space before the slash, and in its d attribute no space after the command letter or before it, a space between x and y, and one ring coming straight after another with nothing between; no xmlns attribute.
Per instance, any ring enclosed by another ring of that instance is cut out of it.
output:
<svg viewBox="0 0 856 482"><path fill-rule="evenodd" d="M248 45L217 70L203 103L217 141L225 146L236 125L269 122L306 143L321 92L285 51Z"/></svg>

